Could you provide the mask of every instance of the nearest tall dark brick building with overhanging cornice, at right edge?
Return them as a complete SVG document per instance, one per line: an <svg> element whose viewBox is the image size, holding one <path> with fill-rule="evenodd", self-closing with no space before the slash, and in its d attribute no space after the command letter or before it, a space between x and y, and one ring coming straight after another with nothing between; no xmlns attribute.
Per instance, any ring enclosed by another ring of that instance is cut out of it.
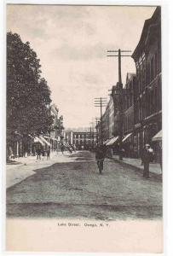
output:
<svg viewBox="0 0 173 256"><path fill-rule="evenodd" d="M134 143L140 156L144 144L152 143L153 136L162 129L160 7L145 20L132 58L136 62Z"/></svg>

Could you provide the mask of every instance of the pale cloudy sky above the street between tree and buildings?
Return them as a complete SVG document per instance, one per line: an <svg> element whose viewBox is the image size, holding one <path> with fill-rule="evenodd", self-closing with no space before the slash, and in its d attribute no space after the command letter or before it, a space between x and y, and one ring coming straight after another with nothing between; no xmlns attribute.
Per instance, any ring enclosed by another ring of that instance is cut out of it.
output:
<svg viewBox="0 0 173 256"><path fill-rule="evenodd" d="M134 51L144 21L155 7L8 5L7 31L29 41L40 59L51 99L65 127L88 127L100 116L95 97L107 97L118 82L118 58L107 49ZM136 73L131 57L122 59L122 80Z"/></svg>

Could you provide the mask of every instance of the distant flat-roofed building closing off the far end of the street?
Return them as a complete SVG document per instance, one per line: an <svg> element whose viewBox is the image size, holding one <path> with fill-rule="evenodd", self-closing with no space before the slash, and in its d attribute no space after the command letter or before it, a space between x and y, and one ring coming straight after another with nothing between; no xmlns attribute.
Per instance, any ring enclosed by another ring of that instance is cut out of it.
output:
<svg viewBox="0 0 173 256"><path fill-rule="evenodd" d="M88 150L96 146L96 132L92 129L91 131L65 131L64 141L69 145L75 145L78 150Z"/></svg>

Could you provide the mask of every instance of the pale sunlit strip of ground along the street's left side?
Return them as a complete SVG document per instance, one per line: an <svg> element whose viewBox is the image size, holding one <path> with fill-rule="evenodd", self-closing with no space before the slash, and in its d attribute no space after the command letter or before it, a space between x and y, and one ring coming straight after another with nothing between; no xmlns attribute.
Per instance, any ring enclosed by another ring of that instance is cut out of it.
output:
<svg viewBox="0 0 173 256"><path fill-rule="evenodd" d="M68 153L61 154L60 152L51 152L50 159L47 160L46 156L42 160L37 160L37 156L27 156L14 159L19 164L6 165L6 188L13 186L16 183L20 183L26 177L30 177L35 174L34 170L52 166L55 163L69 162L75 160L74 158L68 158Z"/></svg>

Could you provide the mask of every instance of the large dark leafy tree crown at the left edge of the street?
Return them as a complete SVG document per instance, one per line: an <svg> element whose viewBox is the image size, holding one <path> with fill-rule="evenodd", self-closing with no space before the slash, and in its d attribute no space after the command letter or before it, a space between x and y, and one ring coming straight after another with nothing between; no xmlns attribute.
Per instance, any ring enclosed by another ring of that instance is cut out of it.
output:
<svg viewBox="0 0 173 256"><path fill-rule="evenodd" d="M7 146L16 137L48 132L50 90L41 77L40 60L29 42L17 33L7 33Z"/></svg>

